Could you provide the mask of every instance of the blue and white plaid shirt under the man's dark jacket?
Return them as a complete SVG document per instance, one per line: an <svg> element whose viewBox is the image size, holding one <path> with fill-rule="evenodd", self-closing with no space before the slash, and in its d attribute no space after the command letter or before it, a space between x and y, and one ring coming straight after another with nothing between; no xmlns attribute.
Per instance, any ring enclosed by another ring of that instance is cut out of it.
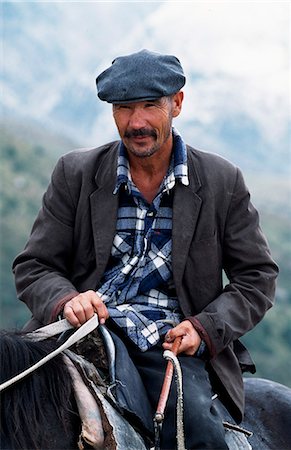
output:
<svg viewBox="0 0 291 450"><path fill-rule="evenodd" d="M189 184L186 146L173 129L174 151L159 192L148 204L130 176L123 143L119 146L116 235L97 294L110 317L142 350L180 323L172 276L172 205L176 182Z"/></svg>

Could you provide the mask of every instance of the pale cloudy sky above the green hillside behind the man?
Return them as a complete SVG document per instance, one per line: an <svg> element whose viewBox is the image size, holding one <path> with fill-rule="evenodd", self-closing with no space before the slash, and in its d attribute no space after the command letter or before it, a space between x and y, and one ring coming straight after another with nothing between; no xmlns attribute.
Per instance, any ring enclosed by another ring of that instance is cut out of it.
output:
<svg viewBox="0 0 291 450"><path fill-rule="evenodd" d="M176 124L187 141L225 156L236 145L249 159L253 146L257 158L290 169L289 2L24 1L1 8L4 117L33 119L84 146L111 140L111 108L96 98L96 75L116 56L149 48L175 54L184 67Z"/></svg>

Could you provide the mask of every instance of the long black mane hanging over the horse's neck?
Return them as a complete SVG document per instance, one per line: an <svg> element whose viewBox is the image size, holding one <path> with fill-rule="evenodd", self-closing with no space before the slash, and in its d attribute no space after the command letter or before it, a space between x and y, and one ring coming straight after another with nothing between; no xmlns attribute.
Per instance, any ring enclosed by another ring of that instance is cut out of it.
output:
<svg viewBox="0 0 291 450"><path fill-rule="evenodd" d="M54 348L52 339L35 342L21 332L0 332L1 383L31 367ZM72 386L60 355L1 393L1 438L15 449L47 448L48 405L67 427Z"/></svg>

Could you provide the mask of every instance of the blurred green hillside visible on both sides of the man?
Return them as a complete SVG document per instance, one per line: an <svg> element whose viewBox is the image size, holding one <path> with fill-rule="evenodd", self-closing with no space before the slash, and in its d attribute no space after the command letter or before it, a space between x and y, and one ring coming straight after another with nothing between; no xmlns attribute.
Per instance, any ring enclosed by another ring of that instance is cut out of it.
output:
<svg viewBox="0 0 291 450"><path fill-rule="evenodd" d="M1 151L1 318L0 328L21 327L30 314L16 299L11 264L23 248L33 220L39 209L52 168L57 158L76 147L70 140L46 130L28 130L19 124L0 125ZM270 179L260 179L260 186ZM287 180L280 180L282 189ZM255 181L253 182L253 187ZM287 185L284 189L287 192ZM256 189L255 189L256 190ZM280 201L282 202L282 196ZM261 198L264 198L262 192ZM269 200L269 199L266 199ZM287 196L286 196L287 202ZM259 203L261 203L259 201ZM268 207L261 203L263 229L281 273L278 281L276 306L265 320L250 332L244 341L255 359L258 376L291 386L291 231L290 217L284 205L275 198Z"/></svg>

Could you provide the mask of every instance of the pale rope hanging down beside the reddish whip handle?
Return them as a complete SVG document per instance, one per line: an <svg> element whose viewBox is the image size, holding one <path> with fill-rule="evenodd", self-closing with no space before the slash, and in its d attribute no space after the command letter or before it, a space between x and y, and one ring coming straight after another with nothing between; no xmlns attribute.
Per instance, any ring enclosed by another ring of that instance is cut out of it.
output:
<svg viewBox="0 0 291 450"><path fill-rule="evenodd" d="M175 370L177 387L177 450L186 450L183 424L183 376L181 365L177 356L170 350L165 350L163 356L166 360L171 361Z"/></svg>

